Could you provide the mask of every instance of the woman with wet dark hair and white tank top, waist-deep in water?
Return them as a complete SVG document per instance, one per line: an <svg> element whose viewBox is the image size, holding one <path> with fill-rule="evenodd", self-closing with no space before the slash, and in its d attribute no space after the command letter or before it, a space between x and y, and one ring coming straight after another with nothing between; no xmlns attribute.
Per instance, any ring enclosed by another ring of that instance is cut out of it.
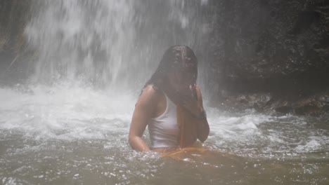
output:
<svg viewBox="0 0 329 185"><path fill-rule="evenodd" d="M165 51L136 103L129 130L133 149L163 153L207 139L209 125L197 76L198 61L191 48L172 46ZM141 139L146 125L150 146Z"/></svg>

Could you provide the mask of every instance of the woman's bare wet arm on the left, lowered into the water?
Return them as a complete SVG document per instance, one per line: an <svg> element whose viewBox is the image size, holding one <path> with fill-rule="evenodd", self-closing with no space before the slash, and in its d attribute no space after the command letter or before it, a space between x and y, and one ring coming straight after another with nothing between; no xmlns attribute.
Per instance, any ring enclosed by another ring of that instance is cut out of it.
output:
<svg viewBox="0 0 329 185"><path fill-rule="evenodd" d="M153 116L153 111L156 110L157 97L157 91L149 85L138 98L129 130L129 144L132 149L150 151L150 148L141 137L149 119Z"/></svg>

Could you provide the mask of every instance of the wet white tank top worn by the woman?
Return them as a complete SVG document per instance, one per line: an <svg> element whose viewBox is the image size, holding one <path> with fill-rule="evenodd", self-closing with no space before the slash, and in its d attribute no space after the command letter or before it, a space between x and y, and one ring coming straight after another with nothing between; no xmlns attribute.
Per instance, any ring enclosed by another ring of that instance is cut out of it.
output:
<svg viewBox="0 0 329 185"><path fill-rule="evenodd" d="M176 104L166 94L167 107L164 113L148 122L150 148L179 146L179 125L177 124Z"/></svg>

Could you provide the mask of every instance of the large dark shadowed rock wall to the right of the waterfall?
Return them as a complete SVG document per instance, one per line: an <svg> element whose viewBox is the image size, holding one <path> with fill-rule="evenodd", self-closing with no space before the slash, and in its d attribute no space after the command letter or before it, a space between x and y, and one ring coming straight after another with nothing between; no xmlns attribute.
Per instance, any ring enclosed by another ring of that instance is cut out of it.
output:
<svg viewBox="0 0 329 185"><path fill-rule="evenodd" d="M211 44L227 107L328 111L329 1L209 1ZM241 106L244 105L244 106Z"/></svg>

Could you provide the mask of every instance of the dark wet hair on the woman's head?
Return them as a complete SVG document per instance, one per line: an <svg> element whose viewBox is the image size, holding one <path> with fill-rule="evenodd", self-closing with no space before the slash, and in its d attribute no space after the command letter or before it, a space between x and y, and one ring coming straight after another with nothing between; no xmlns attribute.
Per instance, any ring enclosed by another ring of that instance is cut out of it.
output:
<svg viewBox="0 0 329 185"><path fill-rule="evenodd" d="M146 82L144 88L148 85L153 85L155 90L163 90L168 80L168 74L173 69L178 70L187 78L192 76L193 83L191 85L195 86L198 78L198 60L193 50L188 46L171 46L164 52L159 66Z"/></svg>

